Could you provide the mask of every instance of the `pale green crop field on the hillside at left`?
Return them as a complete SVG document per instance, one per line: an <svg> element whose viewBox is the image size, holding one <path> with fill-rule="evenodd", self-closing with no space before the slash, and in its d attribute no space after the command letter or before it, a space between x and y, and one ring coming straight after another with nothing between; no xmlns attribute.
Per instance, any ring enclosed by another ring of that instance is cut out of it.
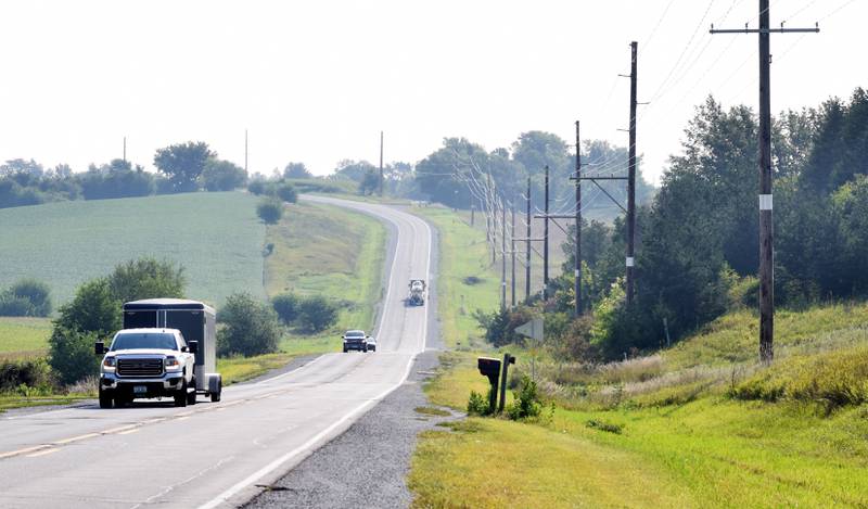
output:
<svg viewBox="0 0 868 509"><path fill-rule="evenodd" d="M125 260L153 256L181 264L191 298L221 304L263 289L265 226L256 198L187 193L75 201L0 209L0 288L31 277L55 303Z"/></svg>

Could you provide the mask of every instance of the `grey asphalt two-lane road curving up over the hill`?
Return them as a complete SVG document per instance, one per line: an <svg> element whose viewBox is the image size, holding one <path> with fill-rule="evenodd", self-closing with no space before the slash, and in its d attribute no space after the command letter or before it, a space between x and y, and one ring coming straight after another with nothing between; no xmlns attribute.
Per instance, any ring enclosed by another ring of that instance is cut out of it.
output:
<svg viewBox="0 0 868 509"><path fill-rule="evenodd" d="M433 306L405 304L409 279L431 279L429 226L383 205L306 199L394 227L379 352L323 355L269 380L227 387L218 404L0 416L0 507L237 506L400 386L425 349L434 317Z"/></svg>

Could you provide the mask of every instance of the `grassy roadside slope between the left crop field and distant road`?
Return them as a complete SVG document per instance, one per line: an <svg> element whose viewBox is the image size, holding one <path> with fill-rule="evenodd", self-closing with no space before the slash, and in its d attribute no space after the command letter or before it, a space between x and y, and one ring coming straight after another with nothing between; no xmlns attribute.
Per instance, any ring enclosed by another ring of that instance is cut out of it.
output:
<svg viewBox="0 0 868 509"><path fill-rule="evenodd" d="M281 351L296 355L336 352L340 331L373 328L381 301L386 229L376 219L331 205L289 205L280 224L270 226L266 242L269 295L321 294L341 303L337 325L315 335L290 333Z"/></svg>

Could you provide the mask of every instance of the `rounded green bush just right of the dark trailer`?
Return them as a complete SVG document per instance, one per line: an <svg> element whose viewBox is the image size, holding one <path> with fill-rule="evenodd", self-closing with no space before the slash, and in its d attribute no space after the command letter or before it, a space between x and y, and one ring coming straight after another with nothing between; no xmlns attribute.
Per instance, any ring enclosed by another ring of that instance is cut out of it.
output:
<svg viewBox="0 0 868 509"><path fill-rule="evenodd" d="M217 334L217 351L221 357L278 351L280 332L277 315L248 293L230 295L218 313L217 321L222 325Z"/></svg>

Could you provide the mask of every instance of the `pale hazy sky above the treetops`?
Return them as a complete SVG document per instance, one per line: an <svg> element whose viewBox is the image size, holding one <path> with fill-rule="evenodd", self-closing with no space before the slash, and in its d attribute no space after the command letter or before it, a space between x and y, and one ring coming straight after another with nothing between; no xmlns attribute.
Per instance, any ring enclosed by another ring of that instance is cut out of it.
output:
<svg viewBox="0 0 868 509"><path fill-rule="evenodd" d="M270 173L418 162L444 137L492 150L532 129L626 145L639 42L638 152L656 180L693 107L757 102L757 0L35 1L0 3L0 160L75 170L208 142ZM868 0L771 0L773 112L868 86ZM612 162L620 169L621 162Z"/></svg>

